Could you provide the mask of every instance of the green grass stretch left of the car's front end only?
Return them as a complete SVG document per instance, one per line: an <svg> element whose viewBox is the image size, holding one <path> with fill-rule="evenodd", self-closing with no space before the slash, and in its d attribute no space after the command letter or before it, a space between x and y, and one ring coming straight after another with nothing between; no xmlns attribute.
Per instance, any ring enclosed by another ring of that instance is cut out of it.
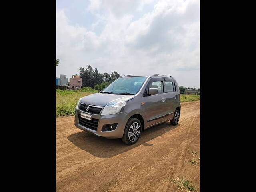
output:
<svg viewBox="0 0 256 192"><path fill-rule="evenodd" d="M90 87L80 90L56 90L56 116L69 116L75 114L76 103L81 97L98 92Z"/></svg>

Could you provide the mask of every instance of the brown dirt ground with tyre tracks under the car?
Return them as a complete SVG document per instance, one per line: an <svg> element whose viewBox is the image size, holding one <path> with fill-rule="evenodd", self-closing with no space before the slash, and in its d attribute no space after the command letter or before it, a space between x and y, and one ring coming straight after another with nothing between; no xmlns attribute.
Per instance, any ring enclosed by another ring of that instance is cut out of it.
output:
<svg viewBox="0 0 256 192"><path fill-rule="evenodd" d="M132 146L76 128L74 116L56 118L58 192L180 191L175 176L200 191L200 101L182 103L178 125L149 128Z"/></svg>

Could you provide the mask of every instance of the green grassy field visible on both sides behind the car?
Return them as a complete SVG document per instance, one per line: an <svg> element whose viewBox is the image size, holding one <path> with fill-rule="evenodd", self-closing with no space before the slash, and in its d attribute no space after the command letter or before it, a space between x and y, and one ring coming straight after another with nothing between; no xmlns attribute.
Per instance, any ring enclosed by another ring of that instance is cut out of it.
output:
<svg viewBox="0 0 256 192"><path fill-rule="evenodd" d="M102 90L107 86L108 82L98 84L96 89ZM80 90L60 90L56 89L56 117L69 116L75 114L76 103L81 97L98 92L98 90L83 87ZM200 95L180 95L181 102L197 101L200 100Z"/></svg>

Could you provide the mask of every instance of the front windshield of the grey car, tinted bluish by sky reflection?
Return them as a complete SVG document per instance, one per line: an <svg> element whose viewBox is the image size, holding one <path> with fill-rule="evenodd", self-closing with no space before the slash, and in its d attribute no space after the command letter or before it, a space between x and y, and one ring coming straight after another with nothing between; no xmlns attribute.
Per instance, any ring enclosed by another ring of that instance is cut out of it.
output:
<svg viewBox="0 0 256 192"><path fill-rule="evenodd" d="M116 79L101 92L124 95L136 94L145 80L146 77L121 77Z"/></svg>

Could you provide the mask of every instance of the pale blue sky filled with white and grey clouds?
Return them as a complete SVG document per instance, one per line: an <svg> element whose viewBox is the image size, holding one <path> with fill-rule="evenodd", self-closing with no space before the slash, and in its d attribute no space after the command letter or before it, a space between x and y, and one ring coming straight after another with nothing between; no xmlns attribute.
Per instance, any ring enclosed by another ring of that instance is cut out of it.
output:
<svg viewBox="0 0 256 192"><path fill-rule="evenodd" d="M56 76L166 74L200 88L200 0L56 0Z"/></svg>

